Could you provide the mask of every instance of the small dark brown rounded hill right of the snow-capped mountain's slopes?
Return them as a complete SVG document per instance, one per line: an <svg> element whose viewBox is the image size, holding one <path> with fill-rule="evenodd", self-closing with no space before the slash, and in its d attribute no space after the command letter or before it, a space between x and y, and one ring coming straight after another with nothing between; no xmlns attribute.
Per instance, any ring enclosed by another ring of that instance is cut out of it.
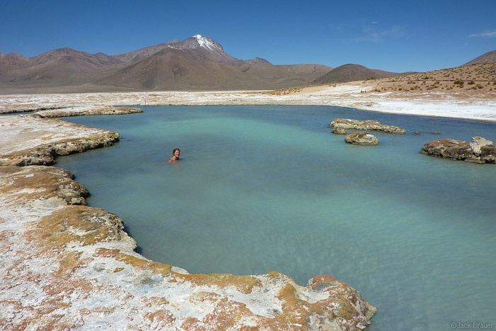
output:
<svg viewBox="0 0 496 331"><path fill-rule="evenodd" d="M383 70L368 69L359 64L344 64L341 67L332 69L327 74L315 79L312 84L333 84L353 82L371 78L386 78L398 76L395 72L385 72Z"/></svg>

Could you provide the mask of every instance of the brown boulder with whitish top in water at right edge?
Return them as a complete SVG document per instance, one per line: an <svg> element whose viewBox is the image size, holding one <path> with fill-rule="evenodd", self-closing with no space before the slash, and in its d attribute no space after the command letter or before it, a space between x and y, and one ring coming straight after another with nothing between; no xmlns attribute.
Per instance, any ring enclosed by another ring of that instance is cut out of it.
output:
<svg viewBox="0 0 496 331"><path fill-rule="evenodd" d="M473 137L471 142L454 139L432 140L427 142L422 154L445 159L459 159L476 163L496 163L496 150L492 141Z"/></svg>

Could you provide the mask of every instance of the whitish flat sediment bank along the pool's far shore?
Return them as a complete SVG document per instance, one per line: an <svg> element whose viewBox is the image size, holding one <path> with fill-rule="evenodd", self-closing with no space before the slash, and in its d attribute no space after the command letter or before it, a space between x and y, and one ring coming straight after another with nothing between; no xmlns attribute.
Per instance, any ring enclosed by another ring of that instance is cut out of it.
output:
<svg viewBox="0 0 496 331"><path fill-rule="evenodd" d="M378 92L351 82L285 91L123 92L0 95L0 113L80 106L319 105L496 123L496 91Z"/></svg>

